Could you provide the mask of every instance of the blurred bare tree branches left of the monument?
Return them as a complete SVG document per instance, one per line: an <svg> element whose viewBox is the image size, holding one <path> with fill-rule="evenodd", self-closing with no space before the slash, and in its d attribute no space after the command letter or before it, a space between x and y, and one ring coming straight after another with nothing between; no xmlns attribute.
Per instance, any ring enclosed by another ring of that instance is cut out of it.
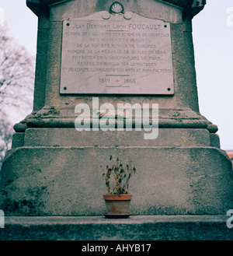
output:
<svg viewBox="0 0 233 256"><path fill-rule="evenodd" d="M15 121L33 107L35 59L0 26L0 168L12 142Z"/></svg>

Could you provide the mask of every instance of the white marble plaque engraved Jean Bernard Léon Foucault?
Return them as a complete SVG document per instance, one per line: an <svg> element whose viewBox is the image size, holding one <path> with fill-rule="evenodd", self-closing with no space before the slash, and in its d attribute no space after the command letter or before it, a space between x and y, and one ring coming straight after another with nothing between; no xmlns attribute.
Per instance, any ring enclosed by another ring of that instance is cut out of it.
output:
<svg viewBox="0 0 233 256"><path fill-rule="evenodd" d="M63 23L61 93L173 94L169 23Z"/></svg>

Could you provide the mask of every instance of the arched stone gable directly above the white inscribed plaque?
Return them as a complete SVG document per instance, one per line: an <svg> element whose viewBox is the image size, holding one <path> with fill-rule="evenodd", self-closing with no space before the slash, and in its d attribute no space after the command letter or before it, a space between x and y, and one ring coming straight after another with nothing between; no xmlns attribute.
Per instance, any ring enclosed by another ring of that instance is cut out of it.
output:
<svg viewBox="0 0 233 256"><path fill-rule="evenodd" d="M68 18L80 18L91 15L93 12L110 11L111 0L99 1L70 1L60 5L51 5L50 20L58 21ZM122 0L124 12L136 12L151 19L163 19L170 23L182 23L183 9L178 5L168 5L161 1L127 1ZM75 10L75 12L74 12Z"/></svg>

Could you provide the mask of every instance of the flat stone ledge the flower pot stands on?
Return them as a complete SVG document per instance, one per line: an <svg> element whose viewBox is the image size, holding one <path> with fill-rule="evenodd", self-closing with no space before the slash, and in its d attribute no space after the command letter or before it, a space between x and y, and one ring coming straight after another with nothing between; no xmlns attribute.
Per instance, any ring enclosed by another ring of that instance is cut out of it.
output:
<svg viewBox="0 0 233 256"><path fill-rule="evenodd" d="M233 240L229 216L5 217L0 240Z"/></svg>

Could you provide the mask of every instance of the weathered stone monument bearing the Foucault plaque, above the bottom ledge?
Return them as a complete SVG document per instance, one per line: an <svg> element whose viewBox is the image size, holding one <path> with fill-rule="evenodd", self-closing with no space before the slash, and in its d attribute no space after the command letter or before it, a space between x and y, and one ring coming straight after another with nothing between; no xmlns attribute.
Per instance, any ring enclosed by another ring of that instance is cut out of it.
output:
<svg viewBox="0 0 233 256"><path fill-rule="evenodd" d="M2 166L5 216L102 215L100 166L110 156L130 156L137 167L133 215L233 209L231 161L198 105L192 19L205 1L26 3L38 16L34 103L14 126ZM116 113L100 128L106 103L132 106L132 131L127 117L117 123ZM146 139L138 126L133 108L143 105L150 119L151 106L158 106L155 138Z"/></svg>

